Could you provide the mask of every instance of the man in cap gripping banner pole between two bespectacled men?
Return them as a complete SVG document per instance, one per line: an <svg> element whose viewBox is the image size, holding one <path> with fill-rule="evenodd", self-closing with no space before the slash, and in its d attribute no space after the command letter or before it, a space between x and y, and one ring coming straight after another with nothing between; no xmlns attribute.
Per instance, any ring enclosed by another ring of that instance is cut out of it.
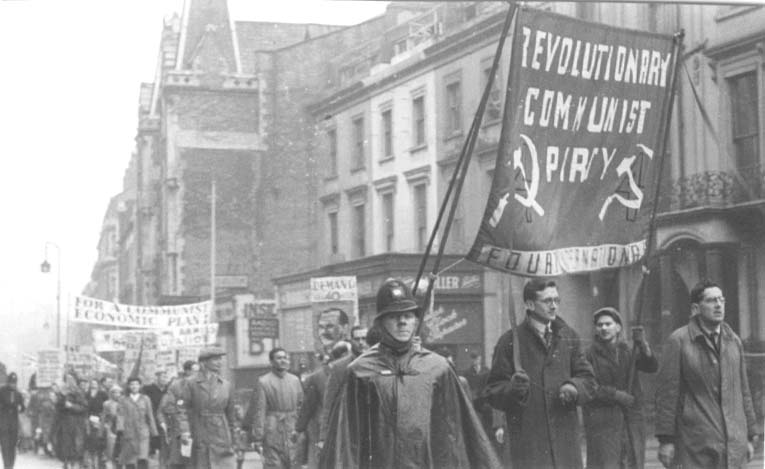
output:
<svg viewBox="0 0 765 469"><path fill-rule="evenodd" d="M643 336L633 329L634 351L622 338L622 317L612 307L592 315L595 340L587 350L597 385L584 405L588 468L642 468L645 461L645 420L640 381L636 371L655 373L659 368ZM634 373L632 388L627 389Z"/></svg>

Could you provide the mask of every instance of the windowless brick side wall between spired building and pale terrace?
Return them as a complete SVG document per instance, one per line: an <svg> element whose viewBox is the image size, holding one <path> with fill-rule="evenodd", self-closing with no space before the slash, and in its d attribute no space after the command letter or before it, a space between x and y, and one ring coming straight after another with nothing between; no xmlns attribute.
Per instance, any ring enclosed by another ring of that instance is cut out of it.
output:
<svg viewBox="0 0 765 469"><path fill-rule="evenodd" d="M261 171L263 263L269 278L318 267L321 233L318 178L323 177L320 139L307 106L326 95L334 80L328 65L336 51L382 34L389 19L345 28L270 54L266 75L268 154ZM269 285L269 288L271 286Z"/></svg>

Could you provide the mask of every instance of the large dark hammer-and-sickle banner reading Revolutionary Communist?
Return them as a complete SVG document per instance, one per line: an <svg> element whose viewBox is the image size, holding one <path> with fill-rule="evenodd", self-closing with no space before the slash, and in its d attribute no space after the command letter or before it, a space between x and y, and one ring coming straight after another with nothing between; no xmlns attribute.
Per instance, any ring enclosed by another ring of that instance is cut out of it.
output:
<svg viewBox="0 0 765 469"><path fill-rule="evenodd" d="M673 39L519 15L494 180L467 258L524 276L635 263L662 160Z"/></svg>

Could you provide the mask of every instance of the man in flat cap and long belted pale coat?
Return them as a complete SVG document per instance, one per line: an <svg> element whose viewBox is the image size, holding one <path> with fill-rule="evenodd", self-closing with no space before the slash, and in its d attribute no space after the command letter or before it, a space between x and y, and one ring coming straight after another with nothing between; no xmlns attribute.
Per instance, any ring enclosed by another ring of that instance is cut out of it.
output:
<svg viewBox="0 0 765 469"><path fill-rule="evenodd" d="M234 469L235 413L231 383L220 375L226 352L217 346L199 352L201 369L182 381L176 406L181 442L192 442L190 467Z"/></svg>

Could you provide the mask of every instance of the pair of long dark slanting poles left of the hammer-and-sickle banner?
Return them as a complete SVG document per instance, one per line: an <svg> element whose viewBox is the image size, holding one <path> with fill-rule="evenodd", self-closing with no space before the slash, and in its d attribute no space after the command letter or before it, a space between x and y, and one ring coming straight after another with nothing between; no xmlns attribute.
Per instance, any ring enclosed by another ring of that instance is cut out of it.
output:
<svg viewBox="0 0 765 469"><path fill-rule="evenodd" d="M507 34L508 34L508 31L510 30L510 24L512 23L512 19L516 16L515 12L517 11L517 9L518 8L516 3L514 2L510 3L510 8L507 11L507 17L505 17L505 22L502 26L502 33L500 34L499 44L497 44L497 52L494 55L494 62L492 63L492 66L491 66L491 72L489 74L489 78L486 80L486 87L484 88L483 95L481 96L481 102L479 103L478 110L476 111L476 114L473 117L473 123L470 126L471 132L468 133L468 136L465 139L465 144L462 147L462 153L460 154L460 159L458 160L458 166L455 167L454 175L452 176L452 181L449 184L450 186L449 192L447 192L446 196L444 197L444 202L441 206L441 213L439 213L439 222L443 216L443 212L446 209L446 205L449 202L449 195L451 195L450 191L453 186L455 190L454 198L451 201L452 205L451 205L451 209L449 210L449 216L446 220L446 225L444 226L443 237L438 246L438 254L436 255L436 259L433 263L433 268L432 268L432 272L430 276L431 281L428 282L427 291L425 293L425 300L423 303L424 305L429 304L430 297L433 294L433 288L435 287L435 282L433 281L433 277L438 272L438 268L441 264L441 258L443 257L444 251L446 250L446 241L449 238L449 230L451 229L452 222L454 221L454 214L457 210L457 204L459 203L459 197L462 192L462 186L465 183L465 176L467 175L467 169L468 169L468 166L470 165L470 160L473 156L473 149L475 148L475 143L478 137L478 130L481 127L483 114L484 114L484 111L486 110L486 104L489 101L489 94L491 93L491 88L494 84L494 76L496 75L497 69L499 68L500 58L502 57L502 49L504 48L505 42L507 40ZM508 79L509 79L509 76L508 76ZM433 227L433 231L431 232L430 241L428 243L427 250L425 254L423 255L423 259L420 263L420 269L417 272L417 277L415 278L415 283L412 289L413 294L417 292L417 286L419 284L420 278L422 277L422 274L425 271L425 265L430 255L430 249L432 248L436 234L438 233L439 225L440 223L437 223ZM417 332L416 332L417 335L419 335L421 328L422 328L422 321L420 321L417 326Z"/></svg>

